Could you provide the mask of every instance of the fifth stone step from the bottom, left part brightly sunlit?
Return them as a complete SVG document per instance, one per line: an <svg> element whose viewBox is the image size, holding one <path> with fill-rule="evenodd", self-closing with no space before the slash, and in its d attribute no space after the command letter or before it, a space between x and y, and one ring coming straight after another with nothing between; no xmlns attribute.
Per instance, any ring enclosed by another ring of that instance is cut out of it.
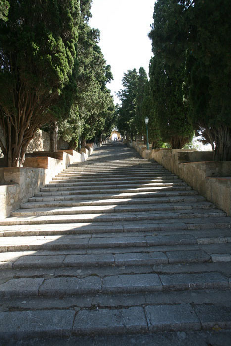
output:
<svg viewBox="0 0 231 346"><path fill-rule="evenodd" d="M228 217L216 218L198 218L198 219L170 219L170 220L153 220L138 221L134 224L126 221L118 221L108 225L105 222L98 223L56 223L56 224L27 224L27 225L0 225L0 237L14 237L14 236L31 236L31 235L66 235L66 234L111 234L117 235L152 235L154 234L167 234L171 235L173 232L181 234L195 234L201 238L204 243L208 241L210 244L219 242L229 242L231 231L231 219ZM203 239L204 238L204 239ZM2 238L1 238L2 239Z"/></svg>

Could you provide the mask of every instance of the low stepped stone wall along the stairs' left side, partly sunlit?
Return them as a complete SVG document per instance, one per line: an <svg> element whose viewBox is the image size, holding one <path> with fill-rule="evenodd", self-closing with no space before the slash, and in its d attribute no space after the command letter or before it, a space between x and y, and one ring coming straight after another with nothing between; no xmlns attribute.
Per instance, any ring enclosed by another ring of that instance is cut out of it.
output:
<svg viewBox="0 0 231 346"><path fill-rule="evenodd" d="M10 216L13 210L20 208L20 204L34 196L68 165L85 161L95 147L97 145L91 143L90 150L83 149L85 152L81 153L74 150L37 152L35 155L41 156L33 153L25 159L24 167L0 168L0 218Z"/></svg>

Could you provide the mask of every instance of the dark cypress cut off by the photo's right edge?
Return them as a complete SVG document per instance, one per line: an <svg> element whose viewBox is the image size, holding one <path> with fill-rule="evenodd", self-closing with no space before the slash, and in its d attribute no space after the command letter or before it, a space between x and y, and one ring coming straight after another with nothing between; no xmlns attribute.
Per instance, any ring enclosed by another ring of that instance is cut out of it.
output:
<svg viewBox="0 0 231 346"><path fill-rule="evenodd" d="M198 0L191 9L187 74L191 119L214 149L215 160L231 160L230 1Z"/></svg>

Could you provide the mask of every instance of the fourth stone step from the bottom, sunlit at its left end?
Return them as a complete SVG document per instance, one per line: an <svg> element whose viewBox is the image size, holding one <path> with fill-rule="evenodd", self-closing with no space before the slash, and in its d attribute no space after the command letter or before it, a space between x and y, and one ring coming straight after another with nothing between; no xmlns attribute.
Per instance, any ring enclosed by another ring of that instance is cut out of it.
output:
<svg viewBox="0 0 231 346"><path fill-rule="evenodd" d="M139 233L131 233L129 235L128 233L124 233L122 235L120 233L86 233L79 235L65 235L65 233L63 233L62 236L30 235L24 237L17 237L17 234L16 236L9 237L6 233L6 236L2 239L0 245L0 261L2 262L2 268L5 268L5 262L11 263L12 261L17 259L18 254L11 254L11 252L18 253L22 251L25 252L39 250L56 251L56 254L58 255L73 255L73 251L75 250L79 251L77 255L112 255L120 252L124 254L161 252L167 256L167 258L169 259L169 263L180 263L182 261L201 261L202 258L202 261L208 261L210 260L210 257L214 262L231 261L231 237L223 237L223 239L217 239L216 237L196 238L192 234L176 234L176 236L171 234L159 234L153 236L150 233L143 235ZM211 239L215 243L211 244ZM226 243L224 243L224 240L226 241ZM216 243L216 241L218 241L218 243ZM221 242L219 243L219 241ZM81 249L85 249L85 251L81 251ZM70 252L68 252L69 250ZM25 254L35 255L34 253ZM19 255L24 256L25 254ZM53 253L53 255L55 254ZM131 257L132 255L129 256ZM164 262L166 262L166 256L165 258L162 258ZM125 257L123 259L125 259ZM135 259L138 258L136 257ZM59 265L62 266L62 263L59 263ZM49 266L49 262L47 262L47 266ZM89 264L89 266L91 265Z"/></svg>

